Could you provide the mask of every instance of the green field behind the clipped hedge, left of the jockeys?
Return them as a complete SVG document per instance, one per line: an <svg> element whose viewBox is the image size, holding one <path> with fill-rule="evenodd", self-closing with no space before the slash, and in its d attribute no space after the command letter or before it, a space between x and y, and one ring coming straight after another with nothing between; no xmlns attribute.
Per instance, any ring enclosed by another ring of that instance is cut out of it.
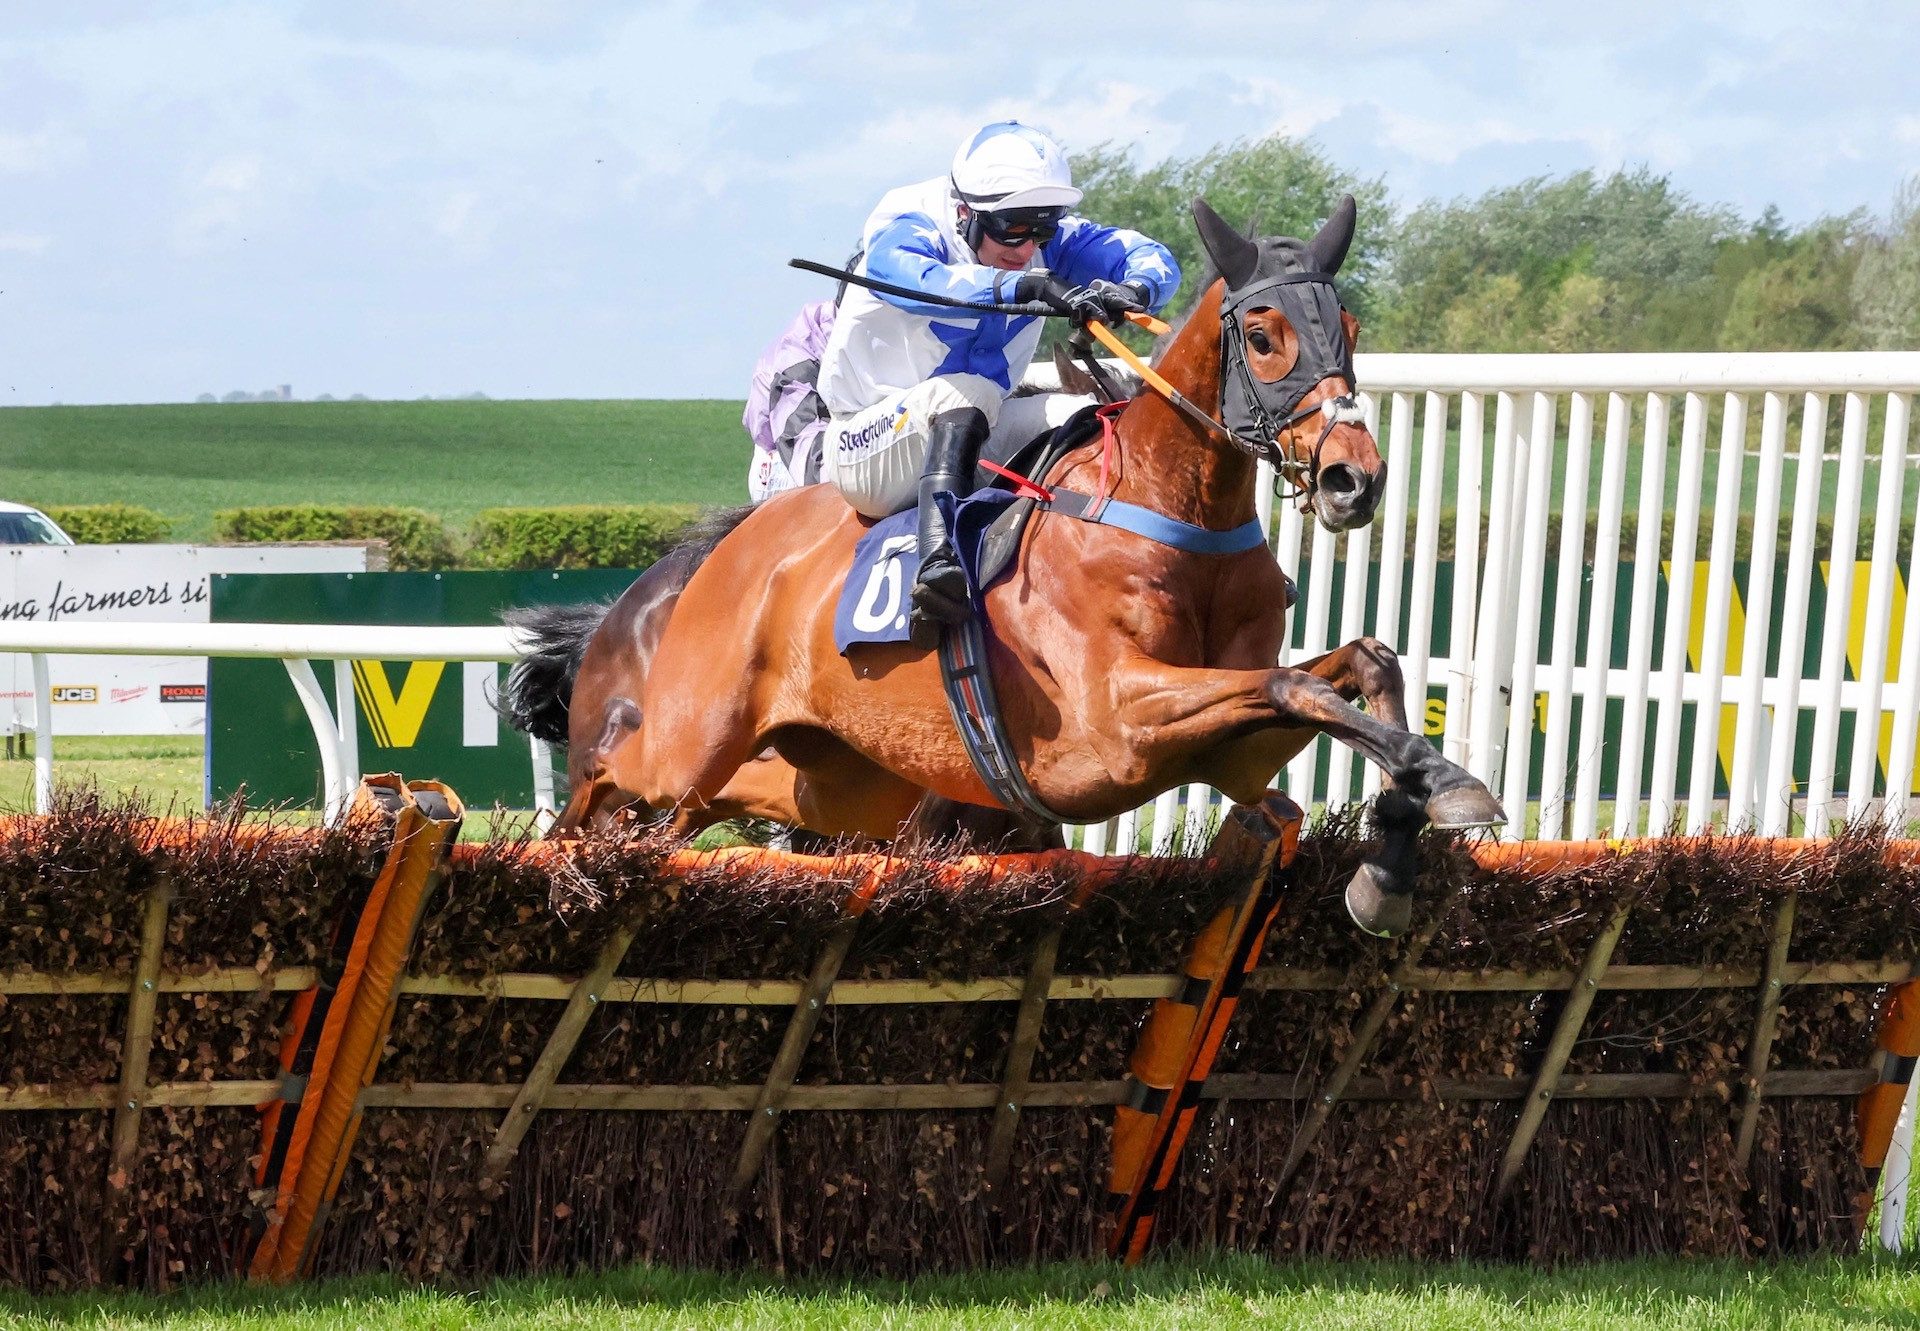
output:
<svg viewBox="0 0 1920 1331"><path fill-rule="evenodd" d="M0 409L0 499L136 503L175 540L215 509L739 503L737 401L263 401Z"/></svg>

